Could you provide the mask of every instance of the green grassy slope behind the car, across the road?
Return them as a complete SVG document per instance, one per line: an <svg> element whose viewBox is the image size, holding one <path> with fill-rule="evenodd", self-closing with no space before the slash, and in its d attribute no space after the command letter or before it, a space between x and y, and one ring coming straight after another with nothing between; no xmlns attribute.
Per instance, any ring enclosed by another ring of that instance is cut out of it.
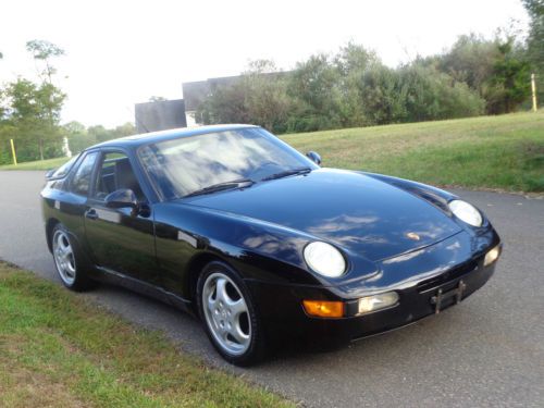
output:
<svg viewBox="0 0 544 408"><path fill-rule="evenodd" d="M318 151L327 168L440 186L544 191L544 110L281 137L302 152ZM17 169L51 169L63 160L23 163Z"/></svg>

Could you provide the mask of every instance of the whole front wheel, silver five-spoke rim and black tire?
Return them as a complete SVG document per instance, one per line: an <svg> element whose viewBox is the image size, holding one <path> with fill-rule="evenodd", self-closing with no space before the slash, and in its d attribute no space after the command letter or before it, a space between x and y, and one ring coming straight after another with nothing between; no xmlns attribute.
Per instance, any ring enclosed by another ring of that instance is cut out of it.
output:
<svg viewBox="0 0 544 408"><path fill-rule="evenodd" d="M236 272L221 262L209 263L199 276L197 298L206 333L225 360L249 366L263 357L262 323Z"/></svg>

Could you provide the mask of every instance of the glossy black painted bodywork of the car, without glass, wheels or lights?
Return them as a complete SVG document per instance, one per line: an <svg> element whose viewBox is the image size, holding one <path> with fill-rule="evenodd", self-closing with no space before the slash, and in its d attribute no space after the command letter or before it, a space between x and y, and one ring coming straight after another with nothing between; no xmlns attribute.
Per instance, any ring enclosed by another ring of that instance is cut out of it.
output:
<svg viewBox="0 0 544 408"><path fill-rule="evenodd" d="M137 149L226 128L236 126L157 133L89 149L128 156L147 211L111 209L71 193L71 171L41 191L49 247L50 231L61 222L98 267L97 280L187 310L200 269L212 259L223 260L259 299L259 313L274 335L375 334L433 313L430 299L437 288L449 289L462 279L469 284L468 296L492 275L494 263L484 268L483 257L500 240L489 221L484 218L481 227L471 227L449 212L447 202L455 196L400 178L320 169L246 189L161 201ZM408 238L410 232L420 239ZM345 275L327 279L307 267L302 249L317 239L345 255ZM343 300L351 310L356 299L386 290L399 294L398 306L361 317L309 318L301 306L302 299Z"/></svg>

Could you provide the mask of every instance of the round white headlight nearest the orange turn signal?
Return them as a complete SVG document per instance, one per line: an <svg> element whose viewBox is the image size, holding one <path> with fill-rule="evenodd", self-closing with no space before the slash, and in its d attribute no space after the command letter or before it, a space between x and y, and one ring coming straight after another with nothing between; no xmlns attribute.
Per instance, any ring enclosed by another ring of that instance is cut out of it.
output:
<svg viewBox="0 0 544 408"><path fill-rule="evenodd" d="M335 247L322 242L306 246L305 260L312 271L329 277L338 277L346 271L346 261Z"/></svg>

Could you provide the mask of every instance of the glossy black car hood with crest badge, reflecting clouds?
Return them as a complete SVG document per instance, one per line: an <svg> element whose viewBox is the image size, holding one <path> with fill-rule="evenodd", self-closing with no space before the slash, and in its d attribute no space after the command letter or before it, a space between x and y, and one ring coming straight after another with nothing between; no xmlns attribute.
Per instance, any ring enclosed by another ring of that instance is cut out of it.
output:
<svg viewBox="0 0 544 408"><path fill-rule="evenodd" d="M361 173L332 169L181 202L298 230L371 261L434 244L461 230L420 197Z"/></svg>

